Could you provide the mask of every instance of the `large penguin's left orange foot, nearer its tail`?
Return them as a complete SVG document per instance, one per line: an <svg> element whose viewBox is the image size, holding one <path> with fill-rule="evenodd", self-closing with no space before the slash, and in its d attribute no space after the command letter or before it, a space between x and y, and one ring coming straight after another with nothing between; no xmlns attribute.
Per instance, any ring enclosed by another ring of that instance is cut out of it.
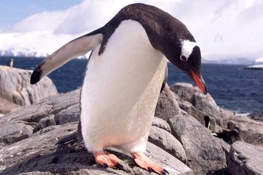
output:
<svg viewBox="0 0 263 175"><path fill-rule="evenodd" d="M118 157L114 154L110 154L107 151L93 152L96 163L111 168L119 168L122 169L122 165L119 163Z"/></svg>

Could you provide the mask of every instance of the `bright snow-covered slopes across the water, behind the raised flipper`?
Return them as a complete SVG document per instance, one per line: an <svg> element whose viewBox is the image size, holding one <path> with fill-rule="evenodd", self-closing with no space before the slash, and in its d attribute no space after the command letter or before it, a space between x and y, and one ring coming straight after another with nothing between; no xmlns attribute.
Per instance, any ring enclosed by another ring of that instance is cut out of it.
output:
<svg viewBox="0 0 263 175"><path fill-rule="evenodd" d="M55 35L51 31L0 33L0 41L4 41L0 43L0 56L47 57L65 43L80 36Z"/></svg>

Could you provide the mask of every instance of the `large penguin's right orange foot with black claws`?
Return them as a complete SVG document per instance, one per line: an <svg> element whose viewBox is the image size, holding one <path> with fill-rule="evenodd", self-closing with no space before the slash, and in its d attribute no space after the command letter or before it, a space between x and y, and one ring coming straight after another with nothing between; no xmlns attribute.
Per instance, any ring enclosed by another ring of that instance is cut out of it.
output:
<svg viewBox="0 0 263 175"><path fill-rule="evenodd" d="M148 170L149 172L154 171L160 175L166 174L166 172L169 174L169 172L166 169L164 169L162 166L158 165L157 163L147 158L142 152L131 153L131 156L134 157L135 162L141 168L144 168Z"/></svg>

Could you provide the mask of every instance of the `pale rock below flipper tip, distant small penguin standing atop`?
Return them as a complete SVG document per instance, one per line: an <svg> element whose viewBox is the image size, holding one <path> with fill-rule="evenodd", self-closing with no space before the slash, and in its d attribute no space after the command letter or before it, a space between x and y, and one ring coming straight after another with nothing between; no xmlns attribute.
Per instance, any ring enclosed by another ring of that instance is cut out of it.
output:
<svg viewBox="0 0 263 175"><path fill-rule="evenodd" d="M32 70L0 65L0 97L25 106L37 103L45 97L57 95L50 78L45 76L36 85L31 85L31 74Z"/></svg>

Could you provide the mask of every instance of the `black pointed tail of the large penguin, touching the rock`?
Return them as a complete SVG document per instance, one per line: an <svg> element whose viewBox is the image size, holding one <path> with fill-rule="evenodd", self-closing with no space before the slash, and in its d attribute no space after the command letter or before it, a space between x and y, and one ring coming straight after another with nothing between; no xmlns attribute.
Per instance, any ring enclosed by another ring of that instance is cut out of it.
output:
<svg viewBox="0 0 263 175"><path fill-rule="evenodd" d="M79 125L78 125L78 130L75 131L74 133L71 133L70 135L68 136L65 136L61 139L59 139L57 142L56 142L56 145L59 144L59 145L73 145L75 143L81 143L83 142L83 136L82 136L82 130L81 130L81 121L79 122Z"/></svg>

